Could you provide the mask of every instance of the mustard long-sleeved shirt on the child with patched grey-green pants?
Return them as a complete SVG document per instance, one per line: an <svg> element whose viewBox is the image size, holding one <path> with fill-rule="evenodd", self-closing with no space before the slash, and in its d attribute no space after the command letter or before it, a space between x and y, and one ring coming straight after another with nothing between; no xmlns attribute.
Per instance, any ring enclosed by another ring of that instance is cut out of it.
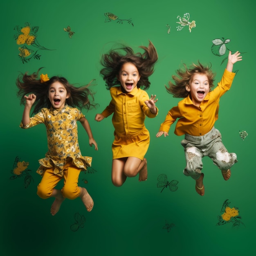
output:
<svg viewBox="0 0 256 256"><path fill-rule="evenodd" d="M193 104L189 96L181 100L178 106L169 110L159 131L168 132L171 125L179 118L174 131L176 135L205 135L218 119L220 97L231 88L234 76L235 73L225 69L218 86L206 95L199 107Z"/></svg>

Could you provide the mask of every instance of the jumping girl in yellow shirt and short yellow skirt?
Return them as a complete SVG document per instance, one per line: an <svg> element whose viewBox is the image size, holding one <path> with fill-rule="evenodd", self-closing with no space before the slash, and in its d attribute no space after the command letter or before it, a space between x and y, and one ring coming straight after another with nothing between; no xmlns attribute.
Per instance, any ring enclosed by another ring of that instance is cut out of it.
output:
<svg viewBox="0 0 256 256"><path fill-rule="evenodd" d="M148 76L153 74L157 61L157 51L149 42L148 47L141 46L144 53L135 54L130 47L112 49L104 54L101 60L101 75L110 90L109 106L96 121L101 121L112 113L115 128L112 144L112 183L121 186L127 177L135 177L139 173L139 181L147 180L147 161L144 156L148 150L150 135L146 129L145 117L156 117L156 96L141 90L149 88ZM122 53L123 51L124 53ZM118 86L115 86L118 85Z"/></svg>

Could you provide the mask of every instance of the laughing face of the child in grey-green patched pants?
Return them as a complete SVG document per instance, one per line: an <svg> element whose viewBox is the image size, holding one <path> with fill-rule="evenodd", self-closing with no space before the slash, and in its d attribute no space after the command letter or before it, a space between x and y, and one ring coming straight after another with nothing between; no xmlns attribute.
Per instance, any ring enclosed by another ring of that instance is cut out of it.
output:
<svg viewBox="0 0 256 256"><path fill-rule="evenodd" d="M207 93L210 91L208 77L205 74L194 74L186 90L190 92L192 102L195 106L200 106Z"/></svg>

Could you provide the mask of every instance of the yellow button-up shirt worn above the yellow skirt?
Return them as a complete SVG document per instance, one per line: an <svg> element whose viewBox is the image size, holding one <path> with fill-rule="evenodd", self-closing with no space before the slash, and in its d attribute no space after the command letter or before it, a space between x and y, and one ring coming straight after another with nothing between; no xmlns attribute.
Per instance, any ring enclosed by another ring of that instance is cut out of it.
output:
<svg viewBox="0 0 256 256"><path fill-rule="evenodd" d="M109 106L101 113L108 117L114 112L112 123L115 132L121 137L132 137L140 134L145 129L145 118L156 117L144 101L149 100L148 94L140 88L134 88L132 92L124 93L121 86L110 88L112 100Z"/></svg>

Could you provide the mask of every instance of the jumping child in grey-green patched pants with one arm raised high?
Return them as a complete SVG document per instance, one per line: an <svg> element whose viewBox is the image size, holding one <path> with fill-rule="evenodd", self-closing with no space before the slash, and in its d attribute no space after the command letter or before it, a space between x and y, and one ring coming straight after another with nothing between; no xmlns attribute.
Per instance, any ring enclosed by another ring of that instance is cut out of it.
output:
<svg viewBox="0 0 256 256"><path fill-rule="evenodd" d="M185 70L177 70L180 77L172 76L175 84L169 81L169 87L166 87L174 97L184 99L169 110L156 137L168 136L171 124L179 118L174 133L185 135L181 141L186 157L183 173L195 180L195 190L199 195L204 195L202 157L209 156L220 168L225 180L230 178L230 168L237 162L236 154L228 153L222 144L221 134L214 123L218 119L220 97L231 88L235 76L233 65L242 61L239 55L239 52L231 54L229 51L227 67L213 91L214 74L201 63L193 64L189 69L184 65Z"/></svg>

